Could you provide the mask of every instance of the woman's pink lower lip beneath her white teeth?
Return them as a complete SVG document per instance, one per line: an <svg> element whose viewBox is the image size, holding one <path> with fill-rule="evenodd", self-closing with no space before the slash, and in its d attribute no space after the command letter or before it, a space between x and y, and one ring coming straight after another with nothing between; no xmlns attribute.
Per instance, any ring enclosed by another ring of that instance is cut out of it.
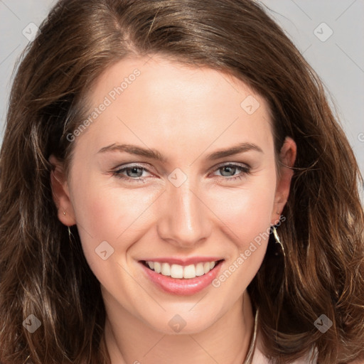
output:
<svg viewBox="0 0 364 364"><path fill-rule="evenodd" d="M218 275L222 263L223 262L219 262L219 264L215 265L210 272L203 274L203 276L189 279L177 279L156 273L154 270L147 268L143 262L140 262L141 267L143 267L144 272L146 272L147 277L151 279L151 282L154 282L154 284L162 290L171 294L178 294L179 296L196 294L208 287Z"/></svg>

